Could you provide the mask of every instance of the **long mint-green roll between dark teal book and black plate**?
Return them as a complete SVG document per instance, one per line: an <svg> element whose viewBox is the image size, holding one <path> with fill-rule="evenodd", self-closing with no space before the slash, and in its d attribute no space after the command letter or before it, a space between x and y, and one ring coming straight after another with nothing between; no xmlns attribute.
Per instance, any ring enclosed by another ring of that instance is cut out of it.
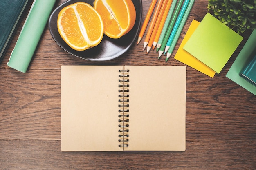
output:
<svg viewBox="0 0 256 170"><path fill-rule="evenodd" d="M7 65L26 73L56 0L34 0Z"/></svg>

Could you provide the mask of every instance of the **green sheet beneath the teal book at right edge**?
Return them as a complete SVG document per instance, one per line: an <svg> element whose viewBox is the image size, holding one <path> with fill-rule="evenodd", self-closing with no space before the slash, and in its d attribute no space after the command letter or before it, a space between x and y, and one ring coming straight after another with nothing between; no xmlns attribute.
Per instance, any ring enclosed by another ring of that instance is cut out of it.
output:
<svg viewBox="0 0 256 170"><path fill-rule="evenodd" d="M256 29L252 32L250 37L248 38L247 42L243 46L243 49L240 51L236 60L230 67L229 71L227 72L226 77L231 79L236 84L242 86L247 91L256 95L256 86L252 85L251 83L247 82L243 77L240 77L239 73L247 64L250 56L256 49Z"/></svg>

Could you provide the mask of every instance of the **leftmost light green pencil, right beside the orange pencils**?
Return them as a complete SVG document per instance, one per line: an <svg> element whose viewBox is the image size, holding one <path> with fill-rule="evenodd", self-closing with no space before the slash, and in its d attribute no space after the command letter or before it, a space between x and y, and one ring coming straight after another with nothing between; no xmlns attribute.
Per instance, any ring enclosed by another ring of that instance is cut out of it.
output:
<svg viewBox="0 0 256 170"><path fill-rule="evenodd" d="M158 50L159 50L159 48L160 48L160 46L161 46L161 44L162 44L162 42L164 40L164 35L165 35L165 33L166 33L167 29L168 29L168 26L169 26L169 24L171 22L171 18L172 18L174 9L176 7L176 4L177 4L177 0L173 0L173 2L171 4L171 7L170 7L170 10L168 12L168 15L166 17L166 20L164 22L164 26L163 26L162 32L160 34L159 40L157 42L157 52L158 52Z"/></svg>

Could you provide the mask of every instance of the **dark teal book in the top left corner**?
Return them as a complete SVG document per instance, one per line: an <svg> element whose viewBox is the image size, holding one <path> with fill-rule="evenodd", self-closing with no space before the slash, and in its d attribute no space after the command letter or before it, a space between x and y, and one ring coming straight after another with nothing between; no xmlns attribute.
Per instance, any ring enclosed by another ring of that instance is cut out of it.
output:
<svg viewBox="0 0 256 170"><path fill-rule="evenodd" d="M30 0L0 0L0 63Z"/></svg>

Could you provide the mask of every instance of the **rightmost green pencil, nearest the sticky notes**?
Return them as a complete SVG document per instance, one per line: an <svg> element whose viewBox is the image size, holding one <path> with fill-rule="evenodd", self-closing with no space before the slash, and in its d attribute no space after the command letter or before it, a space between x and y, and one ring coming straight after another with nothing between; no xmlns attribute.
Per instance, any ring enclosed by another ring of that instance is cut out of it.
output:
<svg viewBox="0 0 256 170"><path fill-rule="evenodd" d="M186 8L185 14L184 14L184 16L183 16L183 18L180 22L180 25L179 25L179 27L177 29L177 32L176 32L176 34L173 38L173 41L171 42L170 48L168 49L167 56L166 56L166 59L165 59L166 62L167 62L168 58L171 56L171 54L173 53L173 50L174 50L174 48L176 46L176 43L177 43L177 41L180 37L180 34L183 30L184 25L186 24L186 20L189 17L189 13L190 13L190 11L193 7L194 2L195 2L195 0L190 0L190 2L188 4L188 7Z"/></svg>

